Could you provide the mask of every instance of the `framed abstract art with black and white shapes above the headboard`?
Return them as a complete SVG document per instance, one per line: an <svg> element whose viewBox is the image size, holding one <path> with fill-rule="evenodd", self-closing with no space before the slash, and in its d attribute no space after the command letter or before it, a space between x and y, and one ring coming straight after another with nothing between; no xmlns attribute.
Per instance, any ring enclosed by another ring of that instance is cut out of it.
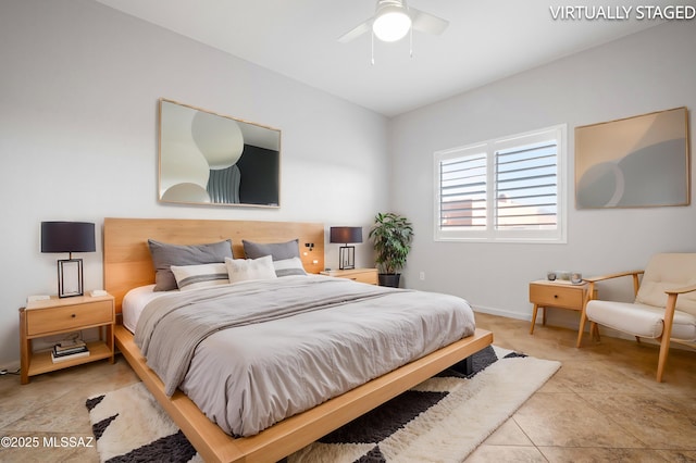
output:
<svg viewBox="0 0 696 463"><path fill-rule="evenodd" d="M161 202L281 205L281 130L160 99Z"/></svg>

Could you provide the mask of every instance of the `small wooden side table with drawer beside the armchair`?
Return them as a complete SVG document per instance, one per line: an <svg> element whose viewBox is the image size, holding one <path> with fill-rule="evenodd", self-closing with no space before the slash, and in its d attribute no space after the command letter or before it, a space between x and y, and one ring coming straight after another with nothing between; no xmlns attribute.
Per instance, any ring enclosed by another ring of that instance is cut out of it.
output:
<svg viewBox="0 0 696 463"><path fill-rule="evenodd" d="M544 311L542 324L546 325L546 311L548 308L582 311L589 299L588 289L588 283L573 285L570 281L549 281L546 279L530 283L530 302L534 304L530 335L534 334L536 312L539 308ZM596 295L594 296L596 297Z"/></svg>

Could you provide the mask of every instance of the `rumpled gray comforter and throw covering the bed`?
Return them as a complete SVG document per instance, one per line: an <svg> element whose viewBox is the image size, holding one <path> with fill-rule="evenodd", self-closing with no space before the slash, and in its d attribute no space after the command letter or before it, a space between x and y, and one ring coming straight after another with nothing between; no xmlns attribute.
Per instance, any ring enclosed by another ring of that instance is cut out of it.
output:
<svg viewBox="0 0 696 463"><path fill-rule="evenodd" d="M156 299L135 340L167 395L250 436L473 331L460 298L294 276Z"/></svg>

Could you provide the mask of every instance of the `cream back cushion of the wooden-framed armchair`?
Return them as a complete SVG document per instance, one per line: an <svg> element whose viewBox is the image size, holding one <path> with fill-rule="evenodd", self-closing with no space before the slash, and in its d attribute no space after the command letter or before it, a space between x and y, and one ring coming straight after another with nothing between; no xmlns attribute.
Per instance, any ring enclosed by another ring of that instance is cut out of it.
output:
<svg viewBox="0 0 696 463"><path fill-rule="evenodd" d="M666 289L674 289L696 284L696 253L655 254L645 267L637 303L667 305ZM696 291L680 295L676 309L696 315Z"/></svg>

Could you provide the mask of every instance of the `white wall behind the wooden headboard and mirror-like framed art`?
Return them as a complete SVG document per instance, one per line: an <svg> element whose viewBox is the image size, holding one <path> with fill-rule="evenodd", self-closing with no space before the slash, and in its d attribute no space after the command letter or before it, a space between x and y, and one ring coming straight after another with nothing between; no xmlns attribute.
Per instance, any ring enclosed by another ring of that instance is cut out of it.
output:
<svg viewBox="0 0 696 463"><path fill-rule="evenodd" d="M67 258L39 252L41 221L97 224L97 252L75 255L91 289L107 216L366 227L386 208L385 117L99 3L0 2L0 367L20 356L17 309L57 292ZM158 203L161 97L282 129L281 208Z"/></svg>

